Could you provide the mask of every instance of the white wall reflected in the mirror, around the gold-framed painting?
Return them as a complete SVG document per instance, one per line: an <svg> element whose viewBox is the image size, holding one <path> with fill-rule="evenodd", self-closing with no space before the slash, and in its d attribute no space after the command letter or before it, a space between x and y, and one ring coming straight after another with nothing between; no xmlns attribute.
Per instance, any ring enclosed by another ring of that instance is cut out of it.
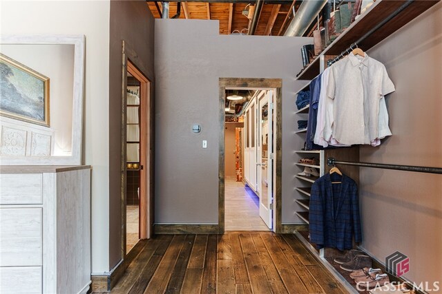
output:
<svg viewBox="0 0 442 294"><path fill-rule="evenodd" d="M50 129L55 156L72 155L74 45L0 45L0 52L49 78Z"/></svg>

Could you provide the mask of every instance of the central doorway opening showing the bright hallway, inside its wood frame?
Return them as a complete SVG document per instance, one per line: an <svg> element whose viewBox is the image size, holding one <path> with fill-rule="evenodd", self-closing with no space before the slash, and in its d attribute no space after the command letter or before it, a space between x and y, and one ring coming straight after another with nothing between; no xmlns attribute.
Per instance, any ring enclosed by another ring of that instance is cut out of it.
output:
<svg viewBox="0 0 442 294"><path fill-rule="evenodd" d="M273 229L273 94L274 90L226 90L226 231Z"/></svg>

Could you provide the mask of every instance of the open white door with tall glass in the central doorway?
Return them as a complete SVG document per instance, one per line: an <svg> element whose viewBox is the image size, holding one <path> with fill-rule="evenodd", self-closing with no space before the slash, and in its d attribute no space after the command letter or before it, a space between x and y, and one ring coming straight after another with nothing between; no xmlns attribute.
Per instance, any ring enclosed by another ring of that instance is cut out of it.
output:
<svg viewBox="0 0 442 294"><path fill-rule="evenodd" d="M272 91L267 91L258 102L258 193L260 194L260 217L269 229L273 227L273 97Z"/></svg>

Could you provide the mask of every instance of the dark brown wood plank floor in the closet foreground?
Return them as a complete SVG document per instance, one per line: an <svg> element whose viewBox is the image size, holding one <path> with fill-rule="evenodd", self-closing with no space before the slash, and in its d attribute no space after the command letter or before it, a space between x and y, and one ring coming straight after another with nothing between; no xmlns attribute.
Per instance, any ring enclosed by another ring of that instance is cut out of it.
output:
<svg viewBox="0 0 442 294"><path fill-rule="evenodd" d="M347 293L291 234L157 235L140 242L111 293Z"/></svg>

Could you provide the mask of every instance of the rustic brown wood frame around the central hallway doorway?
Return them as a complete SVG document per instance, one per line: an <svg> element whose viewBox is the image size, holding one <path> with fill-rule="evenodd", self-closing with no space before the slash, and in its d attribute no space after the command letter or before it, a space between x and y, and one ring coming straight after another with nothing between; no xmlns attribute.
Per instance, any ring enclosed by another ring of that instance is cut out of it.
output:
<svg viewBox="0 0 442 294"><path fill-rule="evenodd" d="M218 156L218 233L224 233L224 127L225 127L225 93L226 88L252 88L275 90L274 116L276 118L276 207L273 207L275 218L275 233L282 232L282 79L281 78L220 78L219 80L219 156Z"/></svg>

